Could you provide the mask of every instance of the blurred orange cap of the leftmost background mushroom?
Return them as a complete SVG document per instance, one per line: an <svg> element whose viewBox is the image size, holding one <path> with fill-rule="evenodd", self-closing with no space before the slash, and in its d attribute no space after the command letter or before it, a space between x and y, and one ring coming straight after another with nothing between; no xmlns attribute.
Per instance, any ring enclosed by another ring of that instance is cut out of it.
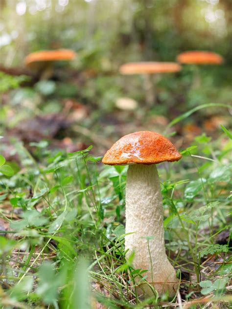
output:
<svg viewBox="0 0 232 309"><path fill-rule="evenodd" d="M40 61L72 60L75 56L76 53L70 49L41 50L27 55L24 62L29 66Z"/></svg>

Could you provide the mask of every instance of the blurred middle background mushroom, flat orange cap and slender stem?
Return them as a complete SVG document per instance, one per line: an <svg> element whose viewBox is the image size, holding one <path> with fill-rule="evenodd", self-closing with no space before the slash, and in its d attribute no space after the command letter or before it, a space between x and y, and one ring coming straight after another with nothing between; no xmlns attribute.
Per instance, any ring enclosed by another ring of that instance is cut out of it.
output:
<svg viewBox="0 0 232 309"><path fill-rule="evenodd" d="M175 62L131 62L120 66L121 74L143 74L146 104L152 106L156 101L156 93L151 74L178 72L181 66Z"/></svg>

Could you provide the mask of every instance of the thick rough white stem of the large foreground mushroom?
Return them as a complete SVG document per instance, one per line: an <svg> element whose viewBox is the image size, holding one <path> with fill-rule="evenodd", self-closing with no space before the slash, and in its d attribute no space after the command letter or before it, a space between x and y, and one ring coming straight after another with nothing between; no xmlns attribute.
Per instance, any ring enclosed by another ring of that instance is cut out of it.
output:
<svg viewBox="0 0 232 309"><path fill-rule="evenodd" d="M146 280L161 295L174 296L178 280L164 247L163 206L156 165L129 165L126 184L126 257L135 252L133 267L147 269ZM149 239L147 239L149 237ZM139 292L154 295L143 283Z"/></svg>

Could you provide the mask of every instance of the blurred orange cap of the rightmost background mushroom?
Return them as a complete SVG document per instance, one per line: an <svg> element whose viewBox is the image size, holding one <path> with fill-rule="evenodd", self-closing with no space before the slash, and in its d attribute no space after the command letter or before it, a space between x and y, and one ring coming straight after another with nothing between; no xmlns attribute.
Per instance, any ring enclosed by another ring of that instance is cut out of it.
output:
<svg viewBox="0 0 232 309"><path fill-rule="evenodd" d="M186 64L220 65L223 62L223 57L211 51L193 50L179 54L177 56L177 61Z"/></svg>

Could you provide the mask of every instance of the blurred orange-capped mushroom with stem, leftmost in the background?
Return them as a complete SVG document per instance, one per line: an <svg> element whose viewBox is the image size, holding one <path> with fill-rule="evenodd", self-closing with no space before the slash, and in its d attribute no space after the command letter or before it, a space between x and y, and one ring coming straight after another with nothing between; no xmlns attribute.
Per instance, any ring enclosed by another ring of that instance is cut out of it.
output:
<svg viewBox="0 0 232 309"><path fill-rule="evenodd" d="M70 49L41 50L27 55L24 59L26 66L40 73L41 79L52 75L52 62L57 60L72 60L76 56Z"/></svg>

